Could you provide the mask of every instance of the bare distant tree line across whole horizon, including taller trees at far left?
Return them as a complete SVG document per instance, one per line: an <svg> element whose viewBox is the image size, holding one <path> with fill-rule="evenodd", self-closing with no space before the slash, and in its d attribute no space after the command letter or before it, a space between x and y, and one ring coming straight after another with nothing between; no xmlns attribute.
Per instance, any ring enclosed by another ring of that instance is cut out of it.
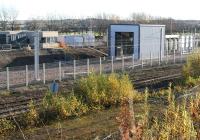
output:
<svg viewBox="0 0 200 140"><path fill-rule="evenodd" d="M30 20L18 21L16 9L2 8L0 10L1 30L48 30L60 33L95 31L100 36L106 34L110 24L163 24L166 33L199 32L200 21L175 20L147 15L145 13L132 13L128 19L117 15L97 14L91 18L72 19L62 15L48 14L46 17L32 17Z"/></svg>

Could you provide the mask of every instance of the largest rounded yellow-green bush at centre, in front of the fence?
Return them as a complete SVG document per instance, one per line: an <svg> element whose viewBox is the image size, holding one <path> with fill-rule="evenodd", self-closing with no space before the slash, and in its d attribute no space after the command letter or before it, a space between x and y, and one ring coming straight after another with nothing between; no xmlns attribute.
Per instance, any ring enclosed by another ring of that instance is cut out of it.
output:
<svg viewBox="0 0 200 140"><path fill-rule="evenodd" d="M77 81L75 95L90 107L109 106L137 97L127 75L95 75Z"/></svg>

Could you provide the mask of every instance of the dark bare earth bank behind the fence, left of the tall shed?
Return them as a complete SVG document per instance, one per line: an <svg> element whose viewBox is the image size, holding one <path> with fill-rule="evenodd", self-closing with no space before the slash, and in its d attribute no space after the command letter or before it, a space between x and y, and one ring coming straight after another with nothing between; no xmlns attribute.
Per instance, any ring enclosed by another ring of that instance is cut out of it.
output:
<svg viewBox="0 0 200 140"><path fill-rule="evenodd" d="M107 47L103 47L100 51L107 53L108 49ZM69 61L73 59L79 60L94 57L99 58L103 56L102 53L89 48L69 48L68 50L43 49L40 50L40 63L52 63L57 61ZM33 64L34 50L0 51L0 69Z"/></svg>

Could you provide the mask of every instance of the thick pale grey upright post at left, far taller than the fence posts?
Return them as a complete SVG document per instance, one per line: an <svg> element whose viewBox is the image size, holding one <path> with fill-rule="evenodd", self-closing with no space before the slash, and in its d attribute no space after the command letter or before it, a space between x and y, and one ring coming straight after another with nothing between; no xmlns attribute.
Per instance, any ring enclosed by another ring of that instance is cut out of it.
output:
<svg viewBox="0 0 200 140"><path fill-rule="evenodd" d="M39 51L40 51L40 39L39 31L34 33L34 64L35 64L35 80L40 80L39 75Z"/></svg>

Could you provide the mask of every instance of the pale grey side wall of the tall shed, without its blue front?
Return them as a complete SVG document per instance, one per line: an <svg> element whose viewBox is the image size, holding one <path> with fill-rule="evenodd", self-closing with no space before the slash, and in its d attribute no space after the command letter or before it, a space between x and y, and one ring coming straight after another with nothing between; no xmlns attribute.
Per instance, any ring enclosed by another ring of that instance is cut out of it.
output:
<svg viewBox="0 0 200 140"><path fill-rule="evenodd" d="M140 25L140 56L143 59L164 56L165 26Z"/></svg>

